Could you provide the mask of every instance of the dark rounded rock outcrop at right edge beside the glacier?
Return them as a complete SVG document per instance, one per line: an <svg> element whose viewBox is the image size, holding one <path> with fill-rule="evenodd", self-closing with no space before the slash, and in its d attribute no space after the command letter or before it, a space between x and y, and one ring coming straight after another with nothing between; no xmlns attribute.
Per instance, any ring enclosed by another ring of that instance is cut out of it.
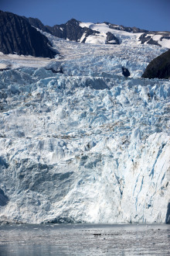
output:
<svg viewBox="0 0 170 256"><path fill-rule="evenodd" d="M148 64L142 78L170 78L170 50Z"/></svg>

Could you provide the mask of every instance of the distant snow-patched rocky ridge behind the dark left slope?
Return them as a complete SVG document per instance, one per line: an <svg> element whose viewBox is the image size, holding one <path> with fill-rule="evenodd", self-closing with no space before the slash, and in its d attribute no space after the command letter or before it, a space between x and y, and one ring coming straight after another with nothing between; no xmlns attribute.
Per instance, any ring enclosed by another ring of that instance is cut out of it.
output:
<svg viewBox="0 0 170 256"><path fill-rule="evenodd" d="M44 26L39 19L28 18L29 23L43 32L51 33L53 36L65 40L80 43L121 43L121 37L117 36L117 31L127 32L127 35L138 34L137 41L141 44L154 44L160 47L170 48L170 32L148 31L136 27L127 27L104 23L80 22L70 19L65 24L55 26Z"/></svg>

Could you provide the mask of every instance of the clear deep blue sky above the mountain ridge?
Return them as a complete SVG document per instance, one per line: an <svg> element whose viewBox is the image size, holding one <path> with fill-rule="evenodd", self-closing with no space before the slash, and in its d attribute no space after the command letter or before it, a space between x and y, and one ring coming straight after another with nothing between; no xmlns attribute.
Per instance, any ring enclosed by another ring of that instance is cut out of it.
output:
<svg viewBox="0 0 170 256"><path fill-rule="evenodd" d="M170 0L0 0L0 9L49 26L74 18L170 31Z"/></svg>

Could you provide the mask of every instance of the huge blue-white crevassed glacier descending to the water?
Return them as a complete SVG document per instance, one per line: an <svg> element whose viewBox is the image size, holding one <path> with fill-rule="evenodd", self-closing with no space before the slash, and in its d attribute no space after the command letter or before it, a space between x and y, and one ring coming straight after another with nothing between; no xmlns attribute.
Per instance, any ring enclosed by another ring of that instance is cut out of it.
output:
<svg viewBox="0 0 170 256"><path fill-rule="evenodd" d="M141 78L166 48L45 34L53 61L2 60L0 222L168 222L170 81Z"/></svg>

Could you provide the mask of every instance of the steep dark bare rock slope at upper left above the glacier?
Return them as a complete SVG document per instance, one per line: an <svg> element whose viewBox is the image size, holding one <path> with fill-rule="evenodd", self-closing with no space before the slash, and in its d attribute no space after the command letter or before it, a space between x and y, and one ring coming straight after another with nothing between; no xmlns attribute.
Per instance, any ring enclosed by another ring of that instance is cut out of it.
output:
<svg viewBox="0 0 170 256"><path fill-rule="evenodd" d="M49 48L49 40L26 18L11 12L0 11L0 51L3 54L23 54L35 57L54 57L56 53Z"/></svg>

